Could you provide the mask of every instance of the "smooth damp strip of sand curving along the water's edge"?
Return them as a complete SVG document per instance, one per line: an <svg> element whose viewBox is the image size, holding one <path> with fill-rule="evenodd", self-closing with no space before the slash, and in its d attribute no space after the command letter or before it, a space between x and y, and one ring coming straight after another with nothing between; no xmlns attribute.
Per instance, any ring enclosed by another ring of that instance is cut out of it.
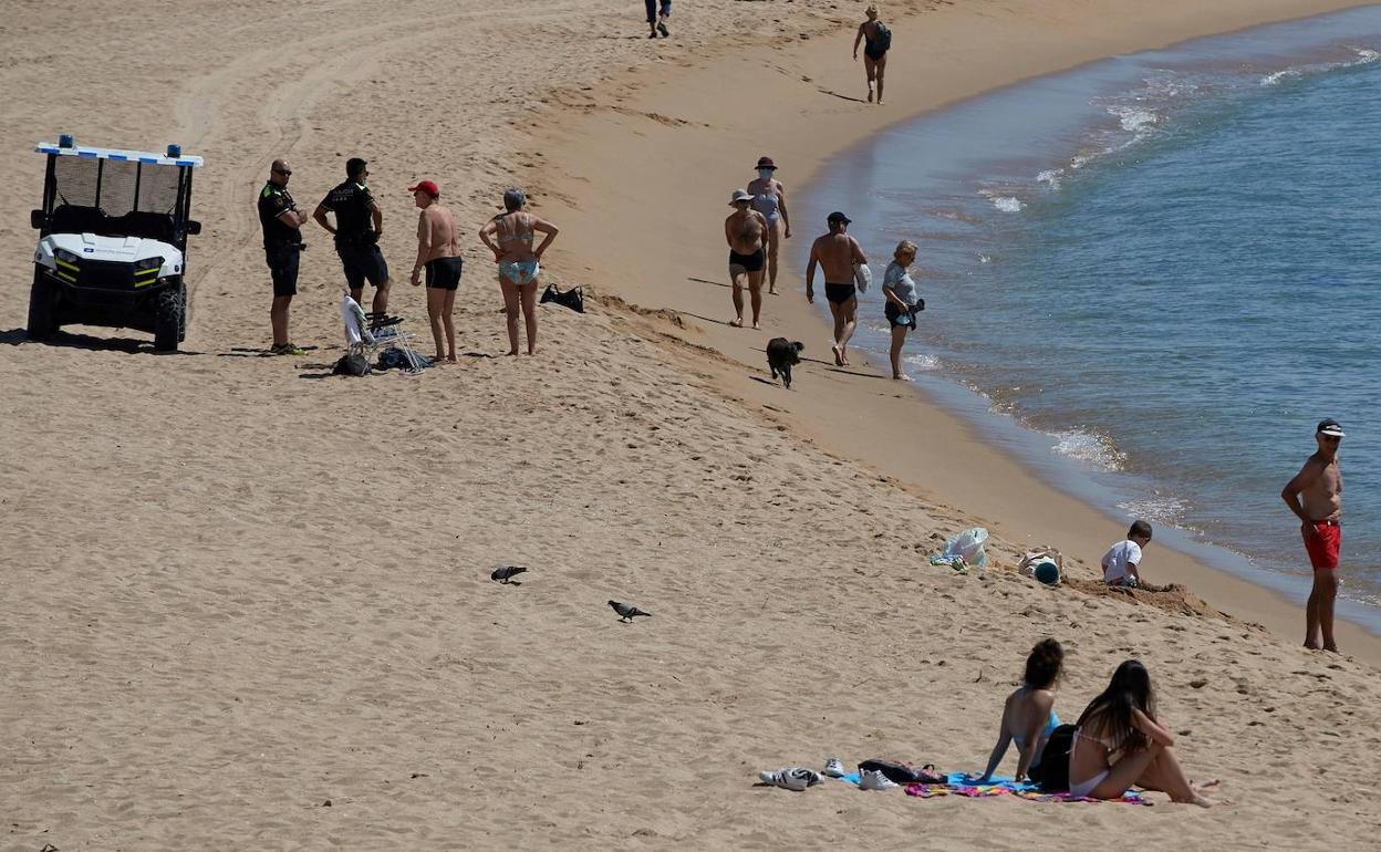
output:
<svg viewBox="0 0 1381 852"><path fill-rule="evenodd" d="M779 177L790 203L802 189L808 191L823 163L838 152L923 113L1110 55L1355 6L1360 4L1232 3L1201 10L1186 3L1161 10L1166 18L1178 18L1174 21L1161 19L1157 25L1135 28L1128 25L1130 15L1109 14L1105 21L1088 25L1094 32L1065 32L1061 29L1063 22L1045 18L1033 8L983 19L949 8L909 15L895 25L889 22L895 33L894 44L918 44L921 47L914 50L924 51L927 57L918 59L909 52L903 61L889 65L889 97L881 108L848 99L863 91L863 81L860 66L848 62L851 36L847 33L852 30L841 28L823 39L807 39L786 50L758 54L733 51L729 57L717 58L714 65L702 65L690 72L684 68L639 72L631 102L624 102L617 113L584 115L576 127L561 130L562 156L550 159L548 164L561 163L562 167L547 170L543 178L557 189L552 193L557 199L579 197L569 206L555 200L551 209L559 211L554 215L576 222L570 231L577 236L565 243L563 253L574 260L570 265L584 271L580 278L594 283L597 290L616 293L644 308L681 313L690 327L668 326L666 333L708 345L754 370L761 369L762 344L778 334L805 341L804 355L819 359L822 351L827 352L827 342L818 342L827 340L827 327L815 309L807 308L800 298L800 269L793 262L797 251L794 240L809 240L823 231L813 222L797 222L793 242L783 244L782 294L764 296L762 333L729 330L717 319L728 316L728 293L722 289L724 261L718 257L722 233L715 233L724 215L720 195L726 196L735 185L747 182L751 162L758 155L769 153L783 167ZM1033 26L1033 19L1039 25ZM975 40L992 48L978 57L965 54L965 59L953 58L960 46ZM1037 50L1012 64L1010 51L1003 50L1008 43L1037 46ZM917 62L921 73L899 73ZM927 64L940 62L945 69L927 68ZM960 80L949 86L918 84L917 77L923 81L932 79L925 70L947 70ZM714 93L732 91L742 80L753 80L754 87L776 105L771 122L762 124L754 123L753 116L724 115ZM905 106L898 110L898 104ZM677 167L666 167L666 163ZM615 189L623 174L639 175L635 185L642 195L632 202ZM706 186L721 189L721 185L722 192L706 191ZM577 189L583 195L577 196ZM706 226L692 225L679 238L649 232L648 220L671 217L675 217L673 221L696 225L703 221ZM590 228L595 222L598 229ZM610 229L641 231L649 239L642 251L630 251L627 257L597 255L570 247L601 246L599 232ZM601 287L601 280L619 283ZM862 359L855 362L856 367L863 366ZM818 363L805 366L790 395L735 369L720 369L718 378L728 395L742 399L749 407L780 412L789 427L804 439L896 476L914 493L957 510L1016 547L1051 544L1061 548L1066 565L1073 565L1068 573L1074 579L1095 576L1094 566L1108 543L1123 536L1124 519L1040 482L1029 465L992 446L975 425L942 409L920 388L892 388L877 371L855 369L845 373L829 366L822 369ZM809 391L805 389L808 383ZM914 432L938 440L916 446L909 438ZM927 472L911 475L903 471ZM994 489L993 483L1000 485ZM1259 623L1280 639L1297 643L1294 637L1302 626L1302 606L1272 588L1170 548L1149 554L1148 570L1157 581L1185 584L1195 595L1219 608L1230 602L1225 612ZM1352 621L1340 620L1338 641L1348 655L1370 663L1381 661L1381 637Z"/></svg>

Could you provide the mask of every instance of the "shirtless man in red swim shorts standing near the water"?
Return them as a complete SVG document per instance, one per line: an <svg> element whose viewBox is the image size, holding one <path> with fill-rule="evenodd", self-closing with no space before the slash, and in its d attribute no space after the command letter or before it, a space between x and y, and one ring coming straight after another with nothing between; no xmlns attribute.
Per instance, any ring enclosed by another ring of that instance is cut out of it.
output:
<svg viewBox="0 0 1381 852"><path fill-rule="evenodd" d="M1338 597L1338 550L1342 544L1342 471L1338 468L1338 445L1342 427L1337 420L1319 421L1315 432L1319 452L1305 460L1280 497L1300 518L1304 548L1313 566L1313 590L1305 605L1305 648L1319 648L1337 653L1333 641L1333 602Z"/></svg>

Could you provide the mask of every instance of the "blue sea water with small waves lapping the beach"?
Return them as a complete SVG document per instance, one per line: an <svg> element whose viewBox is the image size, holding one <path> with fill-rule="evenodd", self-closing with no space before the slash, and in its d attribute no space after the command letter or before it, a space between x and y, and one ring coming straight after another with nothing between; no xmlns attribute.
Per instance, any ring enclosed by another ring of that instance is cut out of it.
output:
<svg viewBox="0 0 1381 852"><path fill-rule="evenodd" d="M1309 572L1279 493L1340 420L1342 612L1377 630L1377 51L1366 7L963 102L833 162L791 249L804 268L836 209L876 275L916 240L923 389L1157 544L1295 599ZM887 363L881 293L859 316L855 342Z"/></svg>

